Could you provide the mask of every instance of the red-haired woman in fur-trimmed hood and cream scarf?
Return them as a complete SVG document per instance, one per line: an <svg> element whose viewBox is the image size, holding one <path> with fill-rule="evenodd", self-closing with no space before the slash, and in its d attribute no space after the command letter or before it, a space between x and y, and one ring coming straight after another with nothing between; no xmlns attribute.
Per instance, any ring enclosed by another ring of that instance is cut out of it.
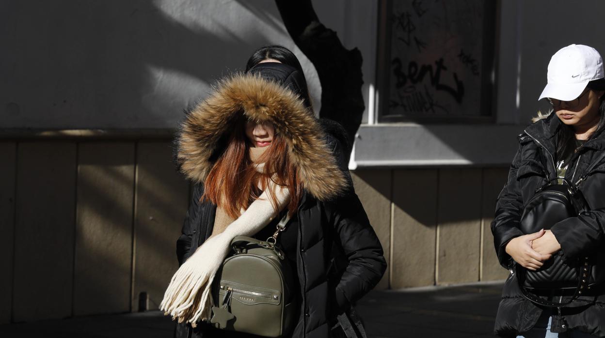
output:
<svg viewBox="0 0 605 338"><path fill-rule="evenodd" d="M352 305L379 282L386 263L342 163L345 138L313 115L299 65L260 51L269 62L221 80L181 127L178 163L195 189L177 241L181 267L160 308L181 322L178 337L234 336L206 323L212 297L204 288L232 238L265 240L288 213L278 244L298 276L290 286L299 290L289 336L365 336ZM191 276L204 283L183 292Z"/></svg>

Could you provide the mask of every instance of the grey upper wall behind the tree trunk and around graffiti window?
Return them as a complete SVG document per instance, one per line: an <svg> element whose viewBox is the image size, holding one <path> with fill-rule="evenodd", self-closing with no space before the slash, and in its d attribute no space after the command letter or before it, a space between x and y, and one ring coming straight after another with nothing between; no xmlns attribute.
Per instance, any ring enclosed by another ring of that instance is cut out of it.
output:
<svg viewBox="0 0 605 338"><path fill-rule="evenodd" d="M495 72L497 123L526 125L546 65L571 43L605 50L595 22L605 4L501 1ZM364 56L365 122L375 96L376 2L314 1L319 18ZM582 13L558 21L561 15ZM272 0L3 1L0 128L171 128L214 79L241 70L265 44L301 59L315 102L315 70L293 45ZM569 28L573 27L573 29ZM430 131L428 131L430 132ZM405 132L402 132L405 134ZM361 154L363 155L363 154Z"/></svg>

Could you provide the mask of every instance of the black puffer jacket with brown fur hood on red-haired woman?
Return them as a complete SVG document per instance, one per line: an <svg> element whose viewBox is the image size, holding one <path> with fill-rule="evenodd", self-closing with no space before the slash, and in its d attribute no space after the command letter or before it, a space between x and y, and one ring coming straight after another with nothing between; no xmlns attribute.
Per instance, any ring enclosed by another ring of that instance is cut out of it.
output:
<svg viewBox="0 0 605 338"><path fill-rule="evenodd" d="M348 311L381 279L386 262L350 175L343 163L338 138L309 115L304 103L284 89L295 70L281 64L264 65L260 76L238 75L220 83L212 96L189 113L178 140L183 172L198 184L189 207L183 235L177 241L182 264L211 235L216 206L199 203L203 180L223 150L221 139L234 114L244 111L251 119L268 120L289 138L290 160L299 167L305 187L296 217L289 226L298 229L297 271L302 304L294 337L330 336L338 314ZM267 76L267 74L272 76ZM277 86L274 80L286 82ZM326 128L327 126L327 128ZM294 146L293 146L294 145ZM201 323L194 330L178 325L177 336L209 337Z"/></svg>

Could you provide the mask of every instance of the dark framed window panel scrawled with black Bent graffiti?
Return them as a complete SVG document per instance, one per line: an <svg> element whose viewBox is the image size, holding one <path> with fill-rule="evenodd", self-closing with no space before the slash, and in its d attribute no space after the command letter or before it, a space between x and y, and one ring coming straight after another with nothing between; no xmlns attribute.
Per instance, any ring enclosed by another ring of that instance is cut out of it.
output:
<svg viewBox="0 0 605 338"><path fill-rule="evenodd" d="M483 0L397 0L388 115L473 117L482 96Z"/></svg>

